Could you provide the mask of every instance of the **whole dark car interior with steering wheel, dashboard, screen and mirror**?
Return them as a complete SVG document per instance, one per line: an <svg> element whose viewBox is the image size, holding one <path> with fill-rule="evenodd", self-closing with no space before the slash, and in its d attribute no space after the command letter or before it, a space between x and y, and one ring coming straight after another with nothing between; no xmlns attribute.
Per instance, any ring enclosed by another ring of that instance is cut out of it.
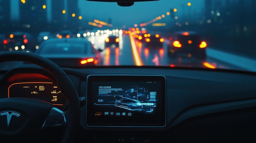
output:
<svg viewBox="0 0 256 143"><path fill-rule="evenodd" d="M0 52L0 62L10 61L31 64L0 70L1 143L256 142L252 71L61 68L34 53Z"/></svg>

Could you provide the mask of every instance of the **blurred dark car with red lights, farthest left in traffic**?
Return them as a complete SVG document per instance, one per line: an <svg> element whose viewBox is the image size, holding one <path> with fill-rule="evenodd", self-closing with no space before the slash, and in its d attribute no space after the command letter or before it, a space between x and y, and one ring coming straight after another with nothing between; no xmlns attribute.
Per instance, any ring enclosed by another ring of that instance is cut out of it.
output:
<svg viewBox="0 0 256 143"><path fill-rule="evenodd" d="M35 40L29 33L13 32L8 35L6 40L4 51L35 51Z"/></svg>

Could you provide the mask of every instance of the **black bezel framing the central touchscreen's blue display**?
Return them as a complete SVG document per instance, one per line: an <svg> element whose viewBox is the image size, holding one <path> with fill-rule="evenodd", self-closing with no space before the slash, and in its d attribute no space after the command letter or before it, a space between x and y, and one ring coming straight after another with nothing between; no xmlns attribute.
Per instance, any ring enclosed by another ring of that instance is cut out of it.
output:
<svg viewBox="0 0 256 143"><path fill-rule="evenodd" d="M88 116L88 112L93 108L92 106L92 83L93 82L100 82L100 81L160 81L161 82L161 108L158 112L161 112L160 117L157 117L157 120L154 119L152 121L148 121L144 123L141 119L137 121L132 120L130 121L124 120L123 122L116 122L116 121L94 121L94 119L90 119ZM85 106L85 125L87 127L165 127L166 126L166 78L162 75L89 75L87 77L87 84L86 84L86 106Z"/></svg>

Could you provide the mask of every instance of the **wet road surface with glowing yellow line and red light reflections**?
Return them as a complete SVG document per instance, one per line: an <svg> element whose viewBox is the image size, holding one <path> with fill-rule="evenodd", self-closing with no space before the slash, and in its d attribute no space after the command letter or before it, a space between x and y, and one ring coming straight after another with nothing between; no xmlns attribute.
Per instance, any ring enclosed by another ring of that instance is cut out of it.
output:
<svg viewBox="0 0 256 143"><path fill-rule="evenodd" d="M98 48L103 49L101 53L104 59L103 65L137 65L137 66L182 66L182 67L204 67L204 68L226 68L241 70L236 66L227 64L217 59L207 57L205 61L192 57L172 59L167 55L167 43L163 47L148 48L143 42L136 40L132 35L119 35L119 47L105 47L104 39L107 35L95 35L88 39Z"/></svg>

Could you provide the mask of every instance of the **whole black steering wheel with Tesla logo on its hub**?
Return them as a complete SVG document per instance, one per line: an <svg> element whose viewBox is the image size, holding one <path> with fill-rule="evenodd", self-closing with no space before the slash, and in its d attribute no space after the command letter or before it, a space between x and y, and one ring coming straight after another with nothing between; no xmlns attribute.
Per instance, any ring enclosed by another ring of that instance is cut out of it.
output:
<svg viewBox="0 0 256 143"><path fill-rule="evenodd" d="M69 108L63 112L52 107L51 103L38 99L20 97L0 99L0 142L19 139L20 136L25 136L29 141L33 134L52 126L65 126L61 143L72 142L79 128L80 104L76 88L67 74L54 62L33 53L1 52L0 62L8 61L30 62L54 75L58 87L67 98Z"/></svg>

